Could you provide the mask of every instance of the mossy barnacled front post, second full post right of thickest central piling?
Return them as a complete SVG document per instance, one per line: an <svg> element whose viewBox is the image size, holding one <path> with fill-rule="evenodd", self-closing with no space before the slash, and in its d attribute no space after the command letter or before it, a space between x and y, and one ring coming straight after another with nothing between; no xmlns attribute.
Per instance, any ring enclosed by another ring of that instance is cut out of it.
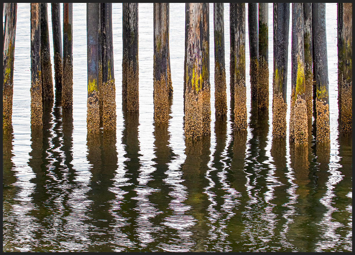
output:
<svg viewBox="0 0 355 255"><path fill-rule="evenodd" d="M245 3L234 4L234 130L247 129L245 85ZM232 43L231 43L232 44ZM232 49L231 49L232 51Z"/></svg>

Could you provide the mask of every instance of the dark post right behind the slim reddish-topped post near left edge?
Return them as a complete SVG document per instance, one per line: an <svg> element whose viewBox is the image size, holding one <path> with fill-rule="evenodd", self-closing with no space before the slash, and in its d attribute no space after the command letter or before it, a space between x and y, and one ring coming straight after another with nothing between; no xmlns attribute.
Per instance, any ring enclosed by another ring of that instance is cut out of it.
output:
<svg viewBox="0 0 355 255"><path fill-rule="evenodd" d="M47 3L41 3L41 73L42 99L51 101L53 94L52 64L50 62Z"/></svg>

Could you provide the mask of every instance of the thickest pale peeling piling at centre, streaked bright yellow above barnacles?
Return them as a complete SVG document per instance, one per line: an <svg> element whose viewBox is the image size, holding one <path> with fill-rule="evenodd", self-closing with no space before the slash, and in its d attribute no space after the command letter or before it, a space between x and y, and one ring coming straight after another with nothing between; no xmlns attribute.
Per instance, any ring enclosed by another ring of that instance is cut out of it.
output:
<svg viewBox="0 0 355 255"><path fill-rule="evenodd" d="M185 136L211 134L209 4L186 4Z"/></svg>

